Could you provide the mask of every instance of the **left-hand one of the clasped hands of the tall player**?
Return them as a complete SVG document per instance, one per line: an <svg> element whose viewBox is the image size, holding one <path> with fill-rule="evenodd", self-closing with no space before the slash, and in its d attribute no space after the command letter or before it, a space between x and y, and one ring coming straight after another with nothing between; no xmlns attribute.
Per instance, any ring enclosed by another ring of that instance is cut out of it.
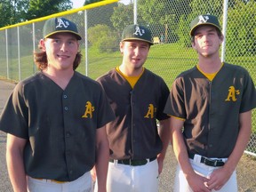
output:
<svg viewBox="0 0 256 192"><path fill-rule="evenodd" d="M211 192L209 188L207 188L207 182L209 179L199 175L199 174L193 174L187 178L188 185L194 192Z"/></svg>

